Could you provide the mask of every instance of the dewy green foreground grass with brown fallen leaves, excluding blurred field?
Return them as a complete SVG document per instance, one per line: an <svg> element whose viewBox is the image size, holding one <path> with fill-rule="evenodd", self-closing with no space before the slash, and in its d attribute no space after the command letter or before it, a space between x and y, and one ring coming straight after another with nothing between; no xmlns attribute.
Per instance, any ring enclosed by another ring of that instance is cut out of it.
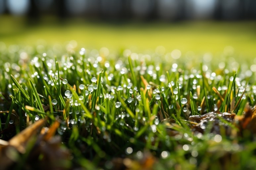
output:
<svg viewBox="0 0 256 170"><path fill-rule="evenodd" d="M11 160L0 160L3 167L254 169L251 63L229 70L231 62L195 65L165 54L139 60L123 51L61 53L1 62L0 149ZM206 114L214 110L230 117Z"/></svg>

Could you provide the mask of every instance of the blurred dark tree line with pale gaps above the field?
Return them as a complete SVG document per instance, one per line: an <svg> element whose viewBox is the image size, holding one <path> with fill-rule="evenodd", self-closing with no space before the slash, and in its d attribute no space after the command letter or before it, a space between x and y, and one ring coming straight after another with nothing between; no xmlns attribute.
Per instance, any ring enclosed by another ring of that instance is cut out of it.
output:
<svg viewBox="0 0 256 170"><path fill-rule="evenodd" d="M0 0L0 15L86 19L255 20L256 0Z"/></svg>

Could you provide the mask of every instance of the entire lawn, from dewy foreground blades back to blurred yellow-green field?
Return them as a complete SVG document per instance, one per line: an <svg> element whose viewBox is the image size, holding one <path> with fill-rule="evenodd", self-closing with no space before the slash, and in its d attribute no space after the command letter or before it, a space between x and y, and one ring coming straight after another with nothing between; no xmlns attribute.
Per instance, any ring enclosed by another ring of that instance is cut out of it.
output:
<svg viewBox="0 0 256 170"><path fill-rule="evenodd" d="M3 169L255 169L254 23L1 19Z"/></svg>

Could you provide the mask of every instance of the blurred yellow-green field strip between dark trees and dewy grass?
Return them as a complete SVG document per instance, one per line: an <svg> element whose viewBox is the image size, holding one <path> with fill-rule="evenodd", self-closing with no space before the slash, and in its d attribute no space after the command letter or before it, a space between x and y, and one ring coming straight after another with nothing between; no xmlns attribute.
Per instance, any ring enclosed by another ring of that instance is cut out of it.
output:
<svg viewBox="0 0 256 170"><path fill-rule="evenodd" d="M84 20L42 19L31 24L25 18L1 16L0 41L6 45L34 45L43 39L48 45L76 40L86 48L124 49L144 52L163 46L166 52L183 54L211 52L218 56L232 46L236 57L256 56L256 23L253 21L90 22Z"/></svg>

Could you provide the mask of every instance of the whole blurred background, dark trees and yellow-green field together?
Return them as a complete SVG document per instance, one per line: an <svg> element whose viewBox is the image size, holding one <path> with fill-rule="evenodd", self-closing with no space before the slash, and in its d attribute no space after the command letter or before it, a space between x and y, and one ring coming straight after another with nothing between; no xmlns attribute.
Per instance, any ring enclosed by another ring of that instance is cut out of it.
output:
<svg viewBox="0 0 256 170"><path fill-rule="evenodd" d="M255 21L254 0L0 0L0 49L65 47L75 40L77 48L110 52L178 49L181 56L192 51L250 61Z"/></svg>

